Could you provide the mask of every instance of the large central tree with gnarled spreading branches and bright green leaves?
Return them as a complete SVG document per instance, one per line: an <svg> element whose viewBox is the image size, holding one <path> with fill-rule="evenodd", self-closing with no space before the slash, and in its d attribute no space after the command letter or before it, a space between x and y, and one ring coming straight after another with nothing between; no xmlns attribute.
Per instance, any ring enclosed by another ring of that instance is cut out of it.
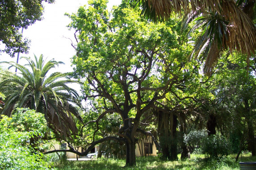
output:
<svg viewBox="0 0 256 170"><path fill-rule="evenodd" d="M69 15L78 38L73 63L75 75L84 81L84 98L98 115L86 125L95 123L97 133L101 119L116 113L122 126L117 136L93 140L84 153L67 151L86 155L95 144L116 140L126 145L126 166L134 166L136 133L151 135L140 128L142 115L184 81L178 75L186 68L185 48L178 44L177 21L170 20L168 26L147 22L126 2L110 15L106 3L89 1L88 9Z"/></svg>

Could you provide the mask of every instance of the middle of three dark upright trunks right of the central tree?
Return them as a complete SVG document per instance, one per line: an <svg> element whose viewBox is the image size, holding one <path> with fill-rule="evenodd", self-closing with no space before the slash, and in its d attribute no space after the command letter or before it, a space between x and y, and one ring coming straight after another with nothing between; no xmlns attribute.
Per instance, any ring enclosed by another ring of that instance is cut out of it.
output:
<svg viewBox="0 0 256 170"><path fill-rule="evenodd" d="M170 151L171 151L171 155L170 155L170 160L171 161L176 161L178 160L178 150L177 150L177 146L178 146L178 142L177 142L177 123L178 123L178 118L177 115L172 114L171 115L171 147L170 147Z"/></svg>

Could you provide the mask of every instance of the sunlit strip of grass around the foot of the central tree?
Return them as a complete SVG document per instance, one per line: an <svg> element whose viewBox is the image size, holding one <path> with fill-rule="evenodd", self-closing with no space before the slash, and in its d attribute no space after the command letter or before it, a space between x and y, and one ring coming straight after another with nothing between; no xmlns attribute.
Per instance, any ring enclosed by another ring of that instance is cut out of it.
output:
<svg viewBox="0 0 256 170"><path fill-rule="evenodd" d="M218 160L205 158L202 154L191 154L185 161L160 161L159 157L137 157L135 167L125 166L125 160L100 158L90 161L62 161L56 162L57 170L239 170L239 163L235 162L235 154ZM256 156L243 154L243 161L256 161ZM239 158L241 161L241 158Z"/></svg>

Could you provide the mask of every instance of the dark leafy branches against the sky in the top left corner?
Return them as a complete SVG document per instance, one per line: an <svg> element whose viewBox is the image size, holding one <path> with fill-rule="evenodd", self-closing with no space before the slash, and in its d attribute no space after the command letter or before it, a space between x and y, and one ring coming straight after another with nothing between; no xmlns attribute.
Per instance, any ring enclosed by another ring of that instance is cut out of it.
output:
<svg viewBox="0 0 256 170"><path fill-rule="evenodd" d="M0 49L14 57L17 52L27 52L30 41L23 38L20 29L26 29L43 15L43 2L54 0L0 0Z"/></svg>

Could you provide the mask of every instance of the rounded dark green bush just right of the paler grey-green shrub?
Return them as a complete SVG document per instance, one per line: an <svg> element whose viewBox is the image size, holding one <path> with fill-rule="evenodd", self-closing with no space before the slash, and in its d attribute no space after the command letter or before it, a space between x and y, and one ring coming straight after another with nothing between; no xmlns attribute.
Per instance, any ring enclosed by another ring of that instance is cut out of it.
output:
<svg viewBox="0 0 256 170"><path fill-rule="evenodd" d="M230 144L225 137L211 135L203 140L202 153L212 158L223 157L230 153Z"/></svg>

